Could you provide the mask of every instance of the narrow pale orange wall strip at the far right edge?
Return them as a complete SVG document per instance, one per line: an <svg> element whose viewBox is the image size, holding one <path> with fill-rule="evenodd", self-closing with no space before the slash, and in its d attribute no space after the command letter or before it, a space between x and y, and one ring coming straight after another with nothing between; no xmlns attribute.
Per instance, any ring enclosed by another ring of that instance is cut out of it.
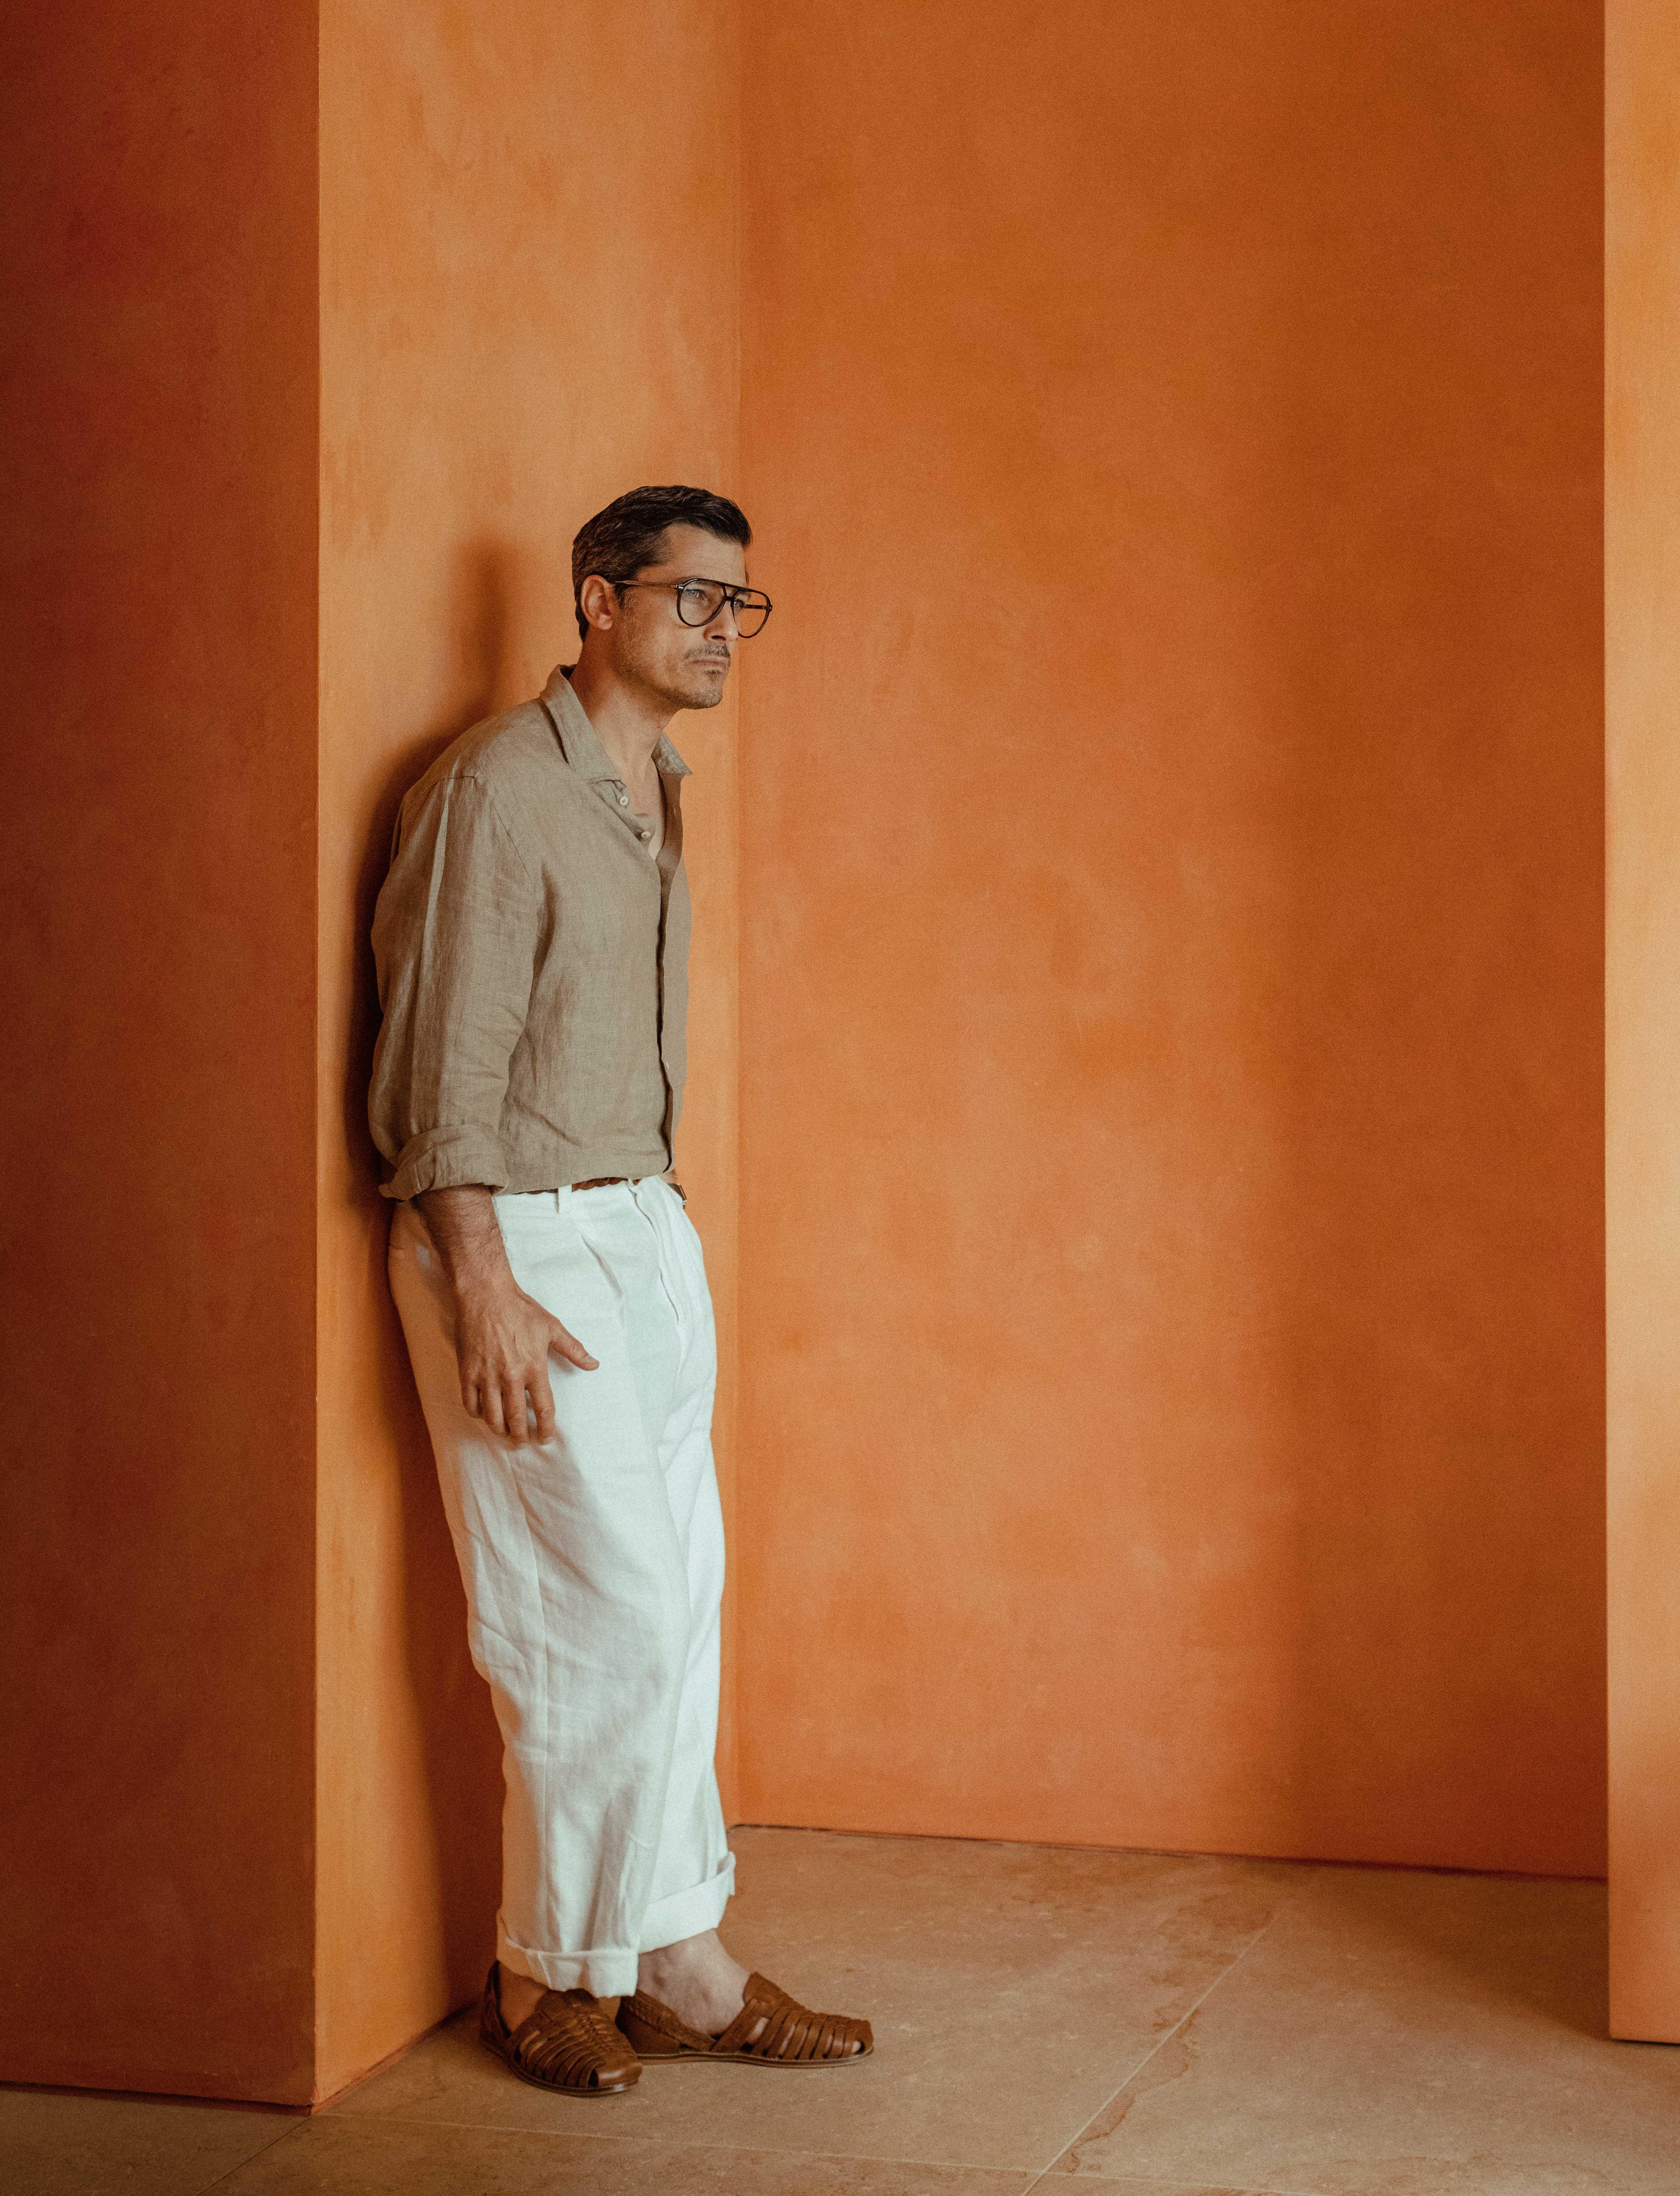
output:
<svg viewBox="0 0 1680 2196"><path fill-rule="evenodd" d="M1680 13L1608 33L1610 2023L1680 2042Z"/></svg>

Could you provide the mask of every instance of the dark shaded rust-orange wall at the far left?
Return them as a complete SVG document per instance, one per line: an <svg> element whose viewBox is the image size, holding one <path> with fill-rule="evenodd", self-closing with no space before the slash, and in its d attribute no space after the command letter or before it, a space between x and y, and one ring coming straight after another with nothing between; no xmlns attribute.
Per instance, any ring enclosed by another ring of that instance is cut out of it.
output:
<svg viewBox="0 0 1680 2196"><path fill-rule="evenodd" d="M314 26L0 86L0 2073L305 2097Z"/></svg>

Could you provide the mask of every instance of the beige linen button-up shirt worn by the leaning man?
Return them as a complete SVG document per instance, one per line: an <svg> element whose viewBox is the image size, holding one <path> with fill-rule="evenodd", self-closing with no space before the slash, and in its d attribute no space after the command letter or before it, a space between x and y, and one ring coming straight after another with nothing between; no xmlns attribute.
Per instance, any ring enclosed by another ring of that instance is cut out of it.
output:
<svg viewBox="0 0 1680 2196"><path fill-rule="evenodd" d="M687 1069L681 782L637 815L553 672L463 731L402 802L373 911L384 1026L367 1116L387 1197L663 1175Z"/></svg>

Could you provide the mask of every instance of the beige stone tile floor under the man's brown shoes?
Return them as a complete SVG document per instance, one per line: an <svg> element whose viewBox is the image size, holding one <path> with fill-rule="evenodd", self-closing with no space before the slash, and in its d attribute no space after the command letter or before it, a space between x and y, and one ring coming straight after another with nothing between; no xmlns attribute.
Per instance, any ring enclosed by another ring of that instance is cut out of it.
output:
<svg viewBox="0 0 1680 2196"><path fill-rule="evenodd" d="M461 2016L314 2119L0 2091L4 2196L1680 2196L1603 1889L740 1829L729 1937L874 2020L828 2073L580 2104ZM1074 2189L1069 2189L1074 2196Z"/></svg>

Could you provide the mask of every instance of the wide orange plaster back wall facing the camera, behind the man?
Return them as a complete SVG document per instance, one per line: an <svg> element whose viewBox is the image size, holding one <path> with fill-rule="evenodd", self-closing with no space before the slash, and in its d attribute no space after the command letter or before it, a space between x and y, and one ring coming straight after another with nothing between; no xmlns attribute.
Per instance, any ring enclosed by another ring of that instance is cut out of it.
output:
<svg viewBox="0 0 1680 2196"><path fill-rule="evenodd" d="M1599 11L742 57L742 1812L1599 1871Z"/></svg>

